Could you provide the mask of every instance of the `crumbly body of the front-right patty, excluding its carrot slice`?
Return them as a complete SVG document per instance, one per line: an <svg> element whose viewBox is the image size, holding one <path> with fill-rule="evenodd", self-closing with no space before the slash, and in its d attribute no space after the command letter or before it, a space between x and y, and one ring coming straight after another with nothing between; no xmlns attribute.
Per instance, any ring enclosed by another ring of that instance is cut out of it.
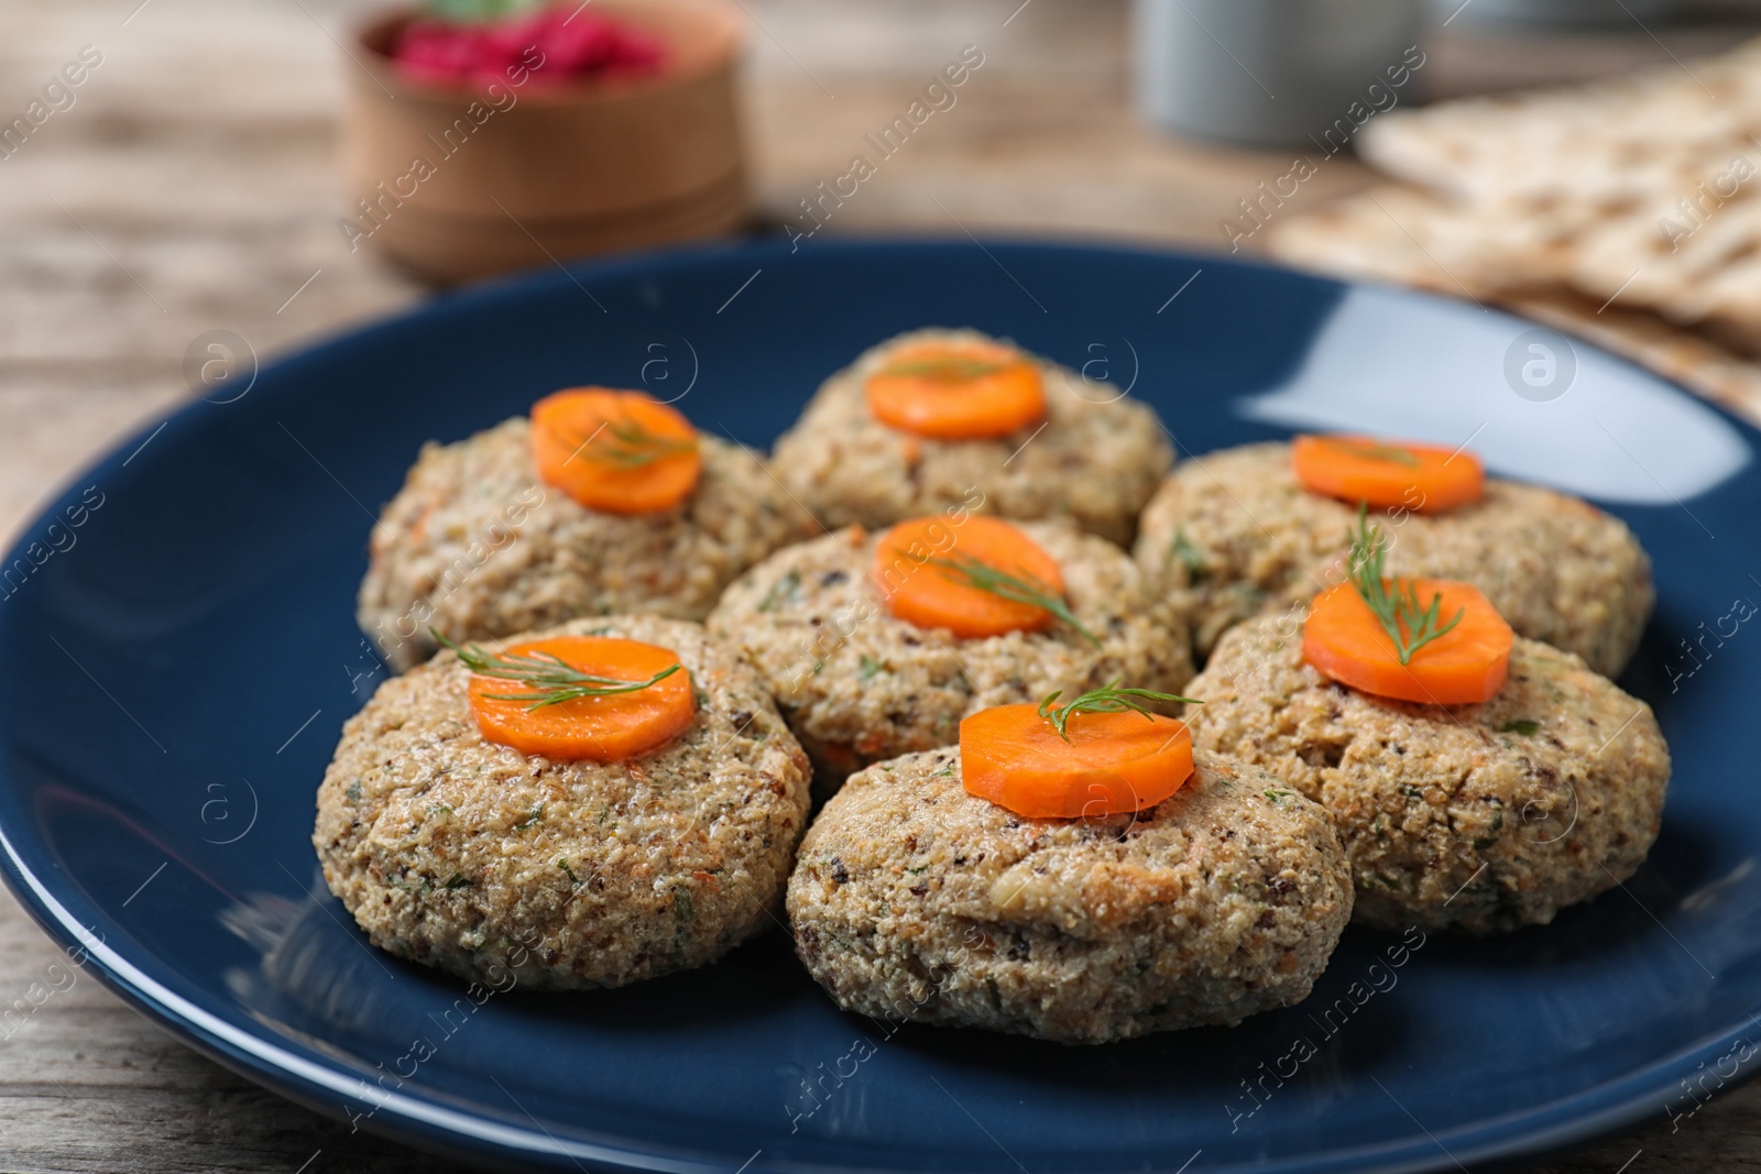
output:
<svg viewBox="0 0 1761 1174"><path fill-rule="evenodd" d="M1278 616L1231 628L1187 686L1192 745L1319 799L1358 921L1495 933L1546 924L1645 861L1669 748L1650 706L1571 653L1518 637L1479 706L1368 697L1301 662Z"/></svg>

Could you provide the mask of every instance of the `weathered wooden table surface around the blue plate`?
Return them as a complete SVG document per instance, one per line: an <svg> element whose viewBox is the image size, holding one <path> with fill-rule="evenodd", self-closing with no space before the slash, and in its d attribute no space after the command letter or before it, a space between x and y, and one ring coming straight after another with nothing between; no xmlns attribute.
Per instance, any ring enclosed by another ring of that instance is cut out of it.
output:
<svg viewBox="0 0 1761 1174"><path fill-rule="evenodd" d="M1280 153L1178 143L1129 104L1116 0L748 0L748 121L768 218L840 174L965 44L986 63L828 232L1083 234L1219 248L1219 220ZM95 46L102 63L0 158L0 532L85 461L188 396L210 329L289 350L424 290L350 255L335 167L342 0L58 0L0 11L0 120ZM1006 18L1016 12L1013 19ZM1694 25L1435 37L1433 95L1618 72L1745 35ZM1655 37L1652 35L1655 33ZM1296 204L1368 183L1349 160ZM1284 209L1280 215L1289 215ZM56 950L0 892L0 1009ZM60 980L58 986L65 986ZM41 986L37 987L42 989ZM319 1118L171 1040L88 973L0 1033L0 1170L447 1170ZM1761 1086L1671 1126L1553 1160L1555 1172L1761 1169Z"/></svg>

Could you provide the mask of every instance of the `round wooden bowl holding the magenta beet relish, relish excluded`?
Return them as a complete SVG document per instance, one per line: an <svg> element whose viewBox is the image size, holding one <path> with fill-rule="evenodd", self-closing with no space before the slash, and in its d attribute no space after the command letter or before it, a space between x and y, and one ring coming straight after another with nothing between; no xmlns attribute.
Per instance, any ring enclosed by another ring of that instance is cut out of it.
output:
<svg viewBox="0 0 1761 1174"><path fill-rule="evenodd" d="M546 259L724 234L748 197L724 0L593 0L659 37L660 72L571 84L435 86L389 56L410 12L356 33L343 151L350 252L372 246L435 282Z"/></svg>

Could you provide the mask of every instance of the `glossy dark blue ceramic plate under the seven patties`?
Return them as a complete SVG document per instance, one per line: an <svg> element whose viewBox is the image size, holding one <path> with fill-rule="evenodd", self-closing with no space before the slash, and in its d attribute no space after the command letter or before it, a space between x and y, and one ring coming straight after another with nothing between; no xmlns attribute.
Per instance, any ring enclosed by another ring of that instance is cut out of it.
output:
<svg viewBox="0 0 1761 1174"><path fill-rule="evenodd" d="M1185 456L1300 428L1472 442L1620 514L1659 586L1622 683L1675 752L1650 862L1509 938L1352 929L1300 1007L1088 1049L889 1035L836 1012L782 933L579 996L467 996L370 949L308 834L382 676L354 590L417 445L583 382L764 445L824 375L923 324L1129 389ZM222 385L30 525L0 569L7 880L222 1063L527 1167L1440 1170L1689 1114L1761 1040L1761 437L1532 329L1212 257L970 241L689 252L444 297Z"/></svg>

